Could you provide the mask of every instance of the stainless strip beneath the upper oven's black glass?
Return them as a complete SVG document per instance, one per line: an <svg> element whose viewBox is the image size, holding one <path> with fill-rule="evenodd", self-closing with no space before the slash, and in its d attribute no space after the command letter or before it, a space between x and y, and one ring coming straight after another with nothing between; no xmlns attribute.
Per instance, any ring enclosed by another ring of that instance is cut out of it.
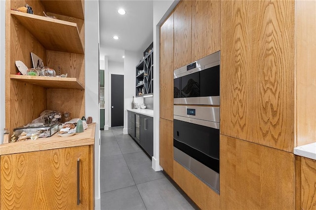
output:
<svg viewBox="0 0 316 210"><path fill-rule="evenodd" d="M220 105L219 96L192 97L192 98L176 98L173 104L183 105Z"/></svg>

